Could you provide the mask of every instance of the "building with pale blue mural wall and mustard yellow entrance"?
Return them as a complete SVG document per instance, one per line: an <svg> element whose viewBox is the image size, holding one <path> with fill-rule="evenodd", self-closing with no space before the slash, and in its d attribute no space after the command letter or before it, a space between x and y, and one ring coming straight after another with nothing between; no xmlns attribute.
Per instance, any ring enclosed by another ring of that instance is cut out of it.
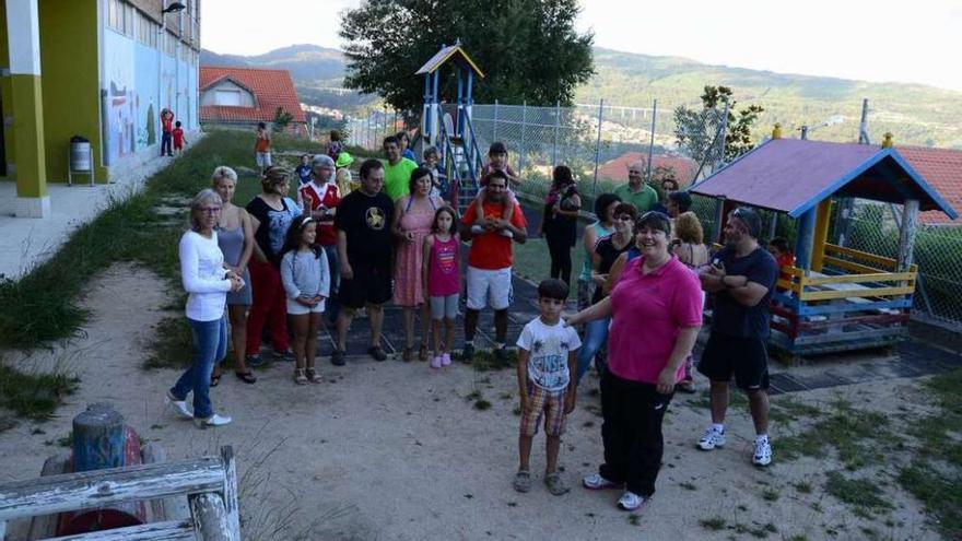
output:
<svg viewBox="0 0 962 541"><path fill-rule="evenodd" d="M163 109L200 126L200 0L7 0L0 33L0 178L19 216L49 214L71 138L106 183L160 153Z"/></svg>

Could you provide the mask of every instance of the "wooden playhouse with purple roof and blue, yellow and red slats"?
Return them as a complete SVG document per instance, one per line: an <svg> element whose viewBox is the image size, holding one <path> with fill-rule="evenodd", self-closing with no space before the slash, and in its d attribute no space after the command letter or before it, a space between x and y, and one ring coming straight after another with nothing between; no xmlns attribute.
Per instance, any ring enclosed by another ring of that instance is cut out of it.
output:
<svg viewBox="0 0 962 541"><path fill-rule="evenodd" d="M907 336L918 275L918 212L957 212L899 154L882 148L773 139L694 186L716 200L714 240L736 205L797 220L796 262L783 267L772 297L770 342L793 356L890 345ZM828 243L838 198L902 205L895 259ZM764 239L760 239L764 243Z"/></svg>

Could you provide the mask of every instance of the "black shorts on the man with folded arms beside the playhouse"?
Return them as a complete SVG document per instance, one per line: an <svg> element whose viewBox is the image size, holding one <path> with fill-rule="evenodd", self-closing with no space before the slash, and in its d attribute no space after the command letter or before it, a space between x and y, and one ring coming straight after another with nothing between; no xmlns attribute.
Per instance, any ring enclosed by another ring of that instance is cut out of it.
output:
<svg viewBox="0 0 962 541"><path fill-rule="evenodd" d="M744 390L769 388L769 351L760 338L726 337L712 333L699 372L712 381L730 381Z"/></svg>

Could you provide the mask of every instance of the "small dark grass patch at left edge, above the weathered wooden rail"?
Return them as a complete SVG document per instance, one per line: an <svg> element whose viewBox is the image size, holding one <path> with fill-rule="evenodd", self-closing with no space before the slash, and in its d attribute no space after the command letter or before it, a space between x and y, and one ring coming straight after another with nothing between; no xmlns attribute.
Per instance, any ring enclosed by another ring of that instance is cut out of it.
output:
<svg viewBox="0 0 962 541"><path fill-rule="evenodd" d="M46 421L79 383L62 373L24 374L0 365L0 407L22 417Z"/></svg>

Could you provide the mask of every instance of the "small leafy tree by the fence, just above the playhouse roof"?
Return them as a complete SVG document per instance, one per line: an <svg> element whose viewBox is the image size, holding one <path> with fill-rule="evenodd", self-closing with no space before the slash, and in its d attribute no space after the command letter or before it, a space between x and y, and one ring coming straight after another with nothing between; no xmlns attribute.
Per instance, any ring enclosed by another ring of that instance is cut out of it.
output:
<svg viewBox="0 0 962 541"><path fill-rule="evenodd" d="M761 105L749 105L736 109L738 102L731 99L728 86L705 86L702 94L701 110L683 105L674 109L674 138L678 144L688 150L696 162L711 166L716 162L730 162L754 148L751 130L765 109ZM725 126L725 144L722 153L719 141L725 119L726 104L728 118Z"/></svg>

